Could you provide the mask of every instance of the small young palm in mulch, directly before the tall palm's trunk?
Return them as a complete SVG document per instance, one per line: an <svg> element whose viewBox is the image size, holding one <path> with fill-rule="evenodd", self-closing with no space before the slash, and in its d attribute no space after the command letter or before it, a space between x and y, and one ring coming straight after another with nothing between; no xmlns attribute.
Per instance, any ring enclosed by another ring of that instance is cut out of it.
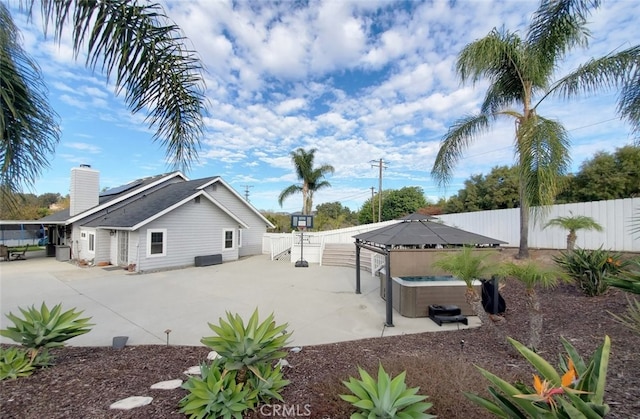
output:
<svg viewBox="0 0 640 419"><path fill-rule="evenodd" d="M552 288L558 284L558 279L562 278L562 273L552 269L543 268L535 262L526 261L523 263L507 262L500 267L500 274L513 277L522 282L527 295L527 307L529 310L529 348L536 350L540 347L540 334L542 333L542 311L540 310L540 300L536 293L537 287Z"/></svg>

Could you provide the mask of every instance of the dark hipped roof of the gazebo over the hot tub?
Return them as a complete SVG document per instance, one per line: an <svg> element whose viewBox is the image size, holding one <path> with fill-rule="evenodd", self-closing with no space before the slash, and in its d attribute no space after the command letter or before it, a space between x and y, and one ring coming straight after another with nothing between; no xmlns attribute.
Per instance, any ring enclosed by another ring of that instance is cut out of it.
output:
<svg viewBox="0 0 640 419"><path fill-rule="evenodd" d="M506 244L502 240L429 221L435 219L435 217L429 215L414 213L402 218L402 221L397 224L361 233L354 236L354 238L357 241L368 242L378 246Z"/></svg>

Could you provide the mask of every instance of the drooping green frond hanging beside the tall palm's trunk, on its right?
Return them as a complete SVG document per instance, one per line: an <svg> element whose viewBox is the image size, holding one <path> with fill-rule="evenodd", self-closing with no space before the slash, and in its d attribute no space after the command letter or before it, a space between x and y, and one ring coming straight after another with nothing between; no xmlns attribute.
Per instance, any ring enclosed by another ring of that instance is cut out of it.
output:
<svg viewBox="0 0 640 419"><path fill-rule="evenodd" d="M532 114L516 135L524 196L531 206L553 204L571 163L567 131L559 122Z"/></svg>

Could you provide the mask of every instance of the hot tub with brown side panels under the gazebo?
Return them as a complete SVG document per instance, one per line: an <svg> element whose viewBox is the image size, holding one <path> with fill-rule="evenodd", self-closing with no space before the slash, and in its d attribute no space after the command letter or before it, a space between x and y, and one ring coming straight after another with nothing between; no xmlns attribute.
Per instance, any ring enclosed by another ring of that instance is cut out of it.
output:
<svg viewBox="0 0 640 419"><path fill-rule="evenodd" d="M380 277L380 296L386 300L386 278ZM464 298L467 285L464 281L447 275L393 277L393 308L404 317L428 317L430 305L456 305L462 314L473 315ZM473 287L480 295L480 281Z"/></svg>

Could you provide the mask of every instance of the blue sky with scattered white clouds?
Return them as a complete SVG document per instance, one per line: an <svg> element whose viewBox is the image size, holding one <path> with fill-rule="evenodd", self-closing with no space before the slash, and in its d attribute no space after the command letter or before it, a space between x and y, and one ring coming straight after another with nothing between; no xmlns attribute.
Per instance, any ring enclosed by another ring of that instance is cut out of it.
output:
<svg viewBox="0 0 640 419"><path fill-rule="evenodd" d="M640 2L605 1L591 17L587 50L575 50L558 75L590 57L640 43ZM207 69L209 115L200 159L186 175L222 176L259 209L299 211L300 196L277 203L296 183L289 153L317 148L331 164L332 187L314 206L340 201L357 210L378 187L372 161L384 159L383 189L420 186L428 199L455 194L469 176L513 163L513 125L498 124L465 153L455 178L439 188L430 176L439 141L457 118L476 112L486 84L461 85L458 52L492 28L524 29L538 1L428 2L165 1ZM106 77L42 36L13 10L27 51L41 66L62 137L34 193L69 191L72 167L90 164L101 187L169 171L143 114L132 115ZM574 171L594 152L633 141L615 114L615 92L539 112L571 135Z"/></svg>

